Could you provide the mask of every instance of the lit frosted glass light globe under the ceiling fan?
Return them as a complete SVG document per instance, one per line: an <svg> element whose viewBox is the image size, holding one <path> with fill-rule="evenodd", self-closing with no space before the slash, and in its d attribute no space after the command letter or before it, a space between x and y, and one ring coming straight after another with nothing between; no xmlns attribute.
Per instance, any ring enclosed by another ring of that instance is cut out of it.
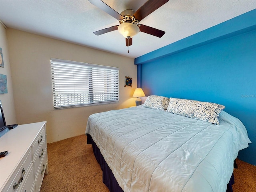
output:
<svg viewBox="0 0 256 192"><path fill-rule="evenodd" d="M138 32L140 32L140 28L136 24L132 23L122 23L118 26L118 32L122 34L125 38L132 38Z"/></svg>

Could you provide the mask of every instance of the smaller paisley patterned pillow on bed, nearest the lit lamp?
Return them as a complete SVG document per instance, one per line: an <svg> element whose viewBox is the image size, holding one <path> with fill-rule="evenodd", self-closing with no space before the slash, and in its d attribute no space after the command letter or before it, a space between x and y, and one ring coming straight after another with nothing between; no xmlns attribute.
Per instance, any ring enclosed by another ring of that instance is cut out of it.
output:
<svg viewBox="0 0 256 192"><path fill-rule="evenodd" d="M143 104L143 107L165 111L170 99L168 97L150 95Z"/></svg>

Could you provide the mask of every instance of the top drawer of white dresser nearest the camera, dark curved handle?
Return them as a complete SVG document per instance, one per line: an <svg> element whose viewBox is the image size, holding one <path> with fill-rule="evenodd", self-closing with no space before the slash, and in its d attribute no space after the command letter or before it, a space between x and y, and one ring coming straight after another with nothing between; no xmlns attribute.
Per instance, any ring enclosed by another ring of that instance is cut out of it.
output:
<svg viewBox="0 0 256 192"><path fill-rule="evenodd" d="M17 192L20 188L22 188L24 184L24 180L28 177L28 168L30 168L32 165L32 153L31 149L27 152L26 156L22 159L23 162L16 171L14 172L13 176L14 179L12 182L8 185L8 190L6 192ZM31 166L30 166L31 165ZM34 176L34 175L33 175ZM5 191L5 190L3 190Z"/></svg>

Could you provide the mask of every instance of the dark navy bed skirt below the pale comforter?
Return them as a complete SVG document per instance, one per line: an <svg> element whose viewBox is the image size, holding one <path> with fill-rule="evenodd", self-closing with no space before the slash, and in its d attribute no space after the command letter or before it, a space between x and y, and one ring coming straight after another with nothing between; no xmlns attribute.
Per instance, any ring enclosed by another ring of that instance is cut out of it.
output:
<svg viewBox="0 0 256 192"><path fill-rule="evenodd" d="M100 164L101 170L103 172L103 178L102 178L103 183L108 187L110 192L124 192L122 188L119 186L118 182L116 181L116 178L114 177L114 174L112 173L111 169L106 163L104 157L100 153L100 149L92 140L92 137L89 134L86 134L86 135L87 135L87 144L92 144L92 150L93 150L94 156L98 161L98 163ZM235 162L234 162L234 166L236 166ZM232 185L234 183L235 183L234 174L232 174L230 181L228 183L226 192L233 192Z"/></svg>

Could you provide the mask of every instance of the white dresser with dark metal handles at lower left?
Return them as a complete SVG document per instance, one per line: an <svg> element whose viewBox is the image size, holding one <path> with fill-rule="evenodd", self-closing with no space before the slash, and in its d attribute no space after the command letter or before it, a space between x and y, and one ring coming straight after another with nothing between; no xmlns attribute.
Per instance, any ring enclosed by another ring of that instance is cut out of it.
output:
<svg viewBox="0 0 256 192"><path fill-rule="evenodd" d="M48 174L46 122L18 125L0 138L1 192L39 192Z"/></svg>

